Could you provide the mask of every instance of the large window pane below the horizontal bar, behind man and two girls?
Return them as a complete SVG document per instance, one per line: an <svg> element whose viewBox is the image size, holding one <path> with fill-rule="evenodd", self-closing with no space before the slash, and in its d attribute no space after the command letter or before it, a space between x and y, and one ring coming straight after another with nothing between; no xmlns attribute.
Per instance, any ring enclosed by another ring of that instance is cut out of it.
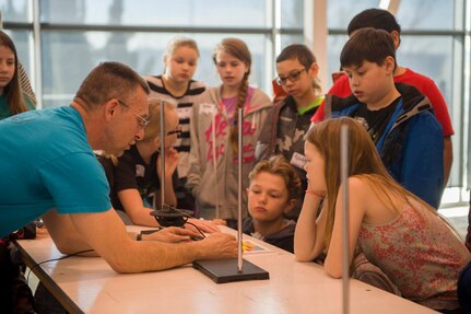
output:
<svg viewBox="0 0 471 314"><path fill-rule="evenodd" d="M180 34L179 34L180 35ZM186 34L199 45L201 58L195 79L209 85L220 84L211 55L215 45L228 36L246 42L252 55L250 83L263 88L267 58L264 35ZM122 32L44 32L43 91L44 107L68 104L81 81L99 61L129 65L141 74L161 74L163 53L175 34Z"/></svg>

